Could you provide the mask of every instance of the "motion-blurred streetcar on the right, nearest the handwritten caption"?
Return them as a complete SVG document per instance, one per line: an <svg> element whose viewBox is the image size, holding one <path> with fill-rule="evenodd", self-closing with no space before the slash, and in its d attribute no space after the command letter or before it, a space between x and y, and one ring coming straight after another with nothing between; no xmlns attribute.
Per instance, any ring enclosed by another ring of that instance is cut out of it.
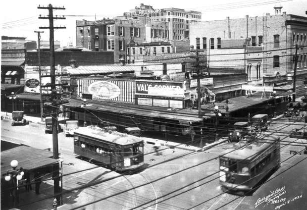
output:
<svg viewBox="0 0 307 210"><path fill-rule="evenodd" d="M240 141L220 158L219 182L227 192L251 192L280 164L280 137L257 134L252 141Z"/></svg>

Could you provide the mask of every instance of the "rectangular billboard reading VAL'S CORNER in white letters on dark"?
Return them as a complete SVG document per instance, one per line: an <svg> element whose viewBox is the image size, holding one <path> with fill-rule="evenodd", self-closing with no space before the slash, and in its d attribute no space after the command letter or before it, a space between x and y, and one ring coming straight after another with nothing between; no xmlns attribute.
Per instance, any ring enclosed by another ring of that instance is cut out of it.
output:
<svg viewBox="0 0 307 210"><path fill-rule="evenodd" d="M136 81L137 95L184 97L185 85L179 82Z"/></svg>

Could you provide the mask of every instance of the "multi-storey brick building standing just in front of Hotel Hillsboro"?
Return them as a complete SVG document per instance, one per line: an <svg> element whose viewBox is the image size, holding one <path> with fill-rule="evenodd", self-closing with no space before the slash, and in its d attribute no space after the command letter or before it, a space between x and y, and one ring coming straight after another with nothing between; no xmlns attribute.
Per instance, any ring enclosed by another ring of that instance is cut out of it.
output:
<svg viewBox="0 0 307 210"><path fill-rule="evenodd" d="M103 19L77 21L77 46L92 51L114 52L114 63L123 59L134 63L137 56L173 52L169 36L169 24L164 21L147 19Z"/></svg>

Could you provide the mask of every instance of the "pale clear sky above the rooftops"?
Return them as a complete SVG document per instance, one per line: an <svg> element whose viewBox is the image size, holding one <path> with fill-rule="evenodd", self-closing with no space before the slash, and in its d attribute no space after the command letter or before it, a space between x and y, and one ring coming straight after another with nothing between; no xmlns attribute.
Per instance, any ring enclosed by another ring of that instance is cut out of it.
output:
<svg viewBox="0 0 307 210"><path fill-rule="evenodd" d="M64 15L65 20L55 20L54 26L65 26L66 29L56 29L54 40L60 41L61 47L72 41L76 45L76 20L95 21L103 17L123 15L140 4L151 5L154 9L168 7L202 12L202 21L265 16L265 13L275 15L276 4L281 4L281 12L307 17L307 0L115 0L110 3L104 0L3 0L1 7L1 36L26 37L26 40L37 41L34 31L44 31L41 40L49 41L49 30L39 29L49 26L48 19L38 19L39 15L47 15L48 9L38 9L40 6L63 7L64 10L53 11L53 16Z"/></svg>

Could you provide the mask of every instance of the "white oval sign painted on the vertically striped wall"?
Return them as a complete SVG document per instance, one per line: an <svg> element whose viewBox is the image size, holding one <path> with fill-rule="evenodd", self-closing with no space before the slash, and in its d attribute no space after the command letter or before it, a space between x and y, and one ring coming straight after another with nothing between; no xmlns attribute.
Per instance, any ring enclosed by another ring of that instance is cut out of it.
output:
<svg viewBox="0 0 307 210"><path fill-rule="evenodd" d="M89 93L100 99L115 99L121 93L120 88L107 81L94 82L89 85Z"/></svg>

